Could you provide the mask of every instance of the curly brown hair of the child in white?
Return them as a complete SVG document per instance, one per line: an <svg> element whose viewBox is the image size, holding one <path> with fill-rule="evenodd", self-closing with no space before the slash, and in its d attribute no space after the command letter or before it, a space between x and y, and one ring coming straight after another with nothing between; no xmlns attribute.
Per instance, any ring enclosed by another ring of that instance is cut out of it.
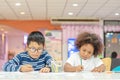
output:
<svg viewBox="0 0 120 80"><path fill-rule="evenodd" d="M93 55L95 57L98 54L102 53L103 44L101 42L101 38L98 35L96 35L94 33L88 33L88 32L84 32L82 34L79 34L76 41L75 41L75 45L79 49L84 44L93 45L93 47L94 47Z"/></svg>

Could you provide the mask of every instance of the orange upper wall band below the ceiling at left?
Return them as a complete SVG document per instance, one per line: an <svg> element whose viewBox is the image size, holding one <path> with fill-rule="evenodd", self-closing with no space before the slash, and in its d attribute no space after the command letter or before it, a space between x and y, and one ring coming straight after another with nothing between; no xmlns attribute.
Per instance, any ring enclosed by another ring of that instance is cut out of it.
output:
<svg viewBox="0 0 120 80"><path fill-rule="evenodd" d="M0 24L30 33L34 30L61 30L60 25L52 25L49 20L0 20Z"/></svg>

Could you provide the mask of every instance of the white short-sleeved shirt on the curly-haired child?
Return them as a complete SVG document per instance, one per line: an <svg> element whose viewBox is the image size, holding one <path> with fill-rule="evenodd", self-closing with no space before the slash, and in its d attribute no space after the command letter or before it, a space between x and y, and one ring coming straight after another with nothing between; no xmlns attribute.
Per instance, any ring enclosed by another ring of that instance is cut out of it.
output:
<svg viewBox="0 0 120 80"><path fill-rule="evenodd" d="M91 71L95 67L98 67L101 64L103 64L101 59L94 56L92 56L90 59L87 60L81 59L79 53L72 54L66 62L71 64L72 66L82 65L84 71Z"/></svg>

